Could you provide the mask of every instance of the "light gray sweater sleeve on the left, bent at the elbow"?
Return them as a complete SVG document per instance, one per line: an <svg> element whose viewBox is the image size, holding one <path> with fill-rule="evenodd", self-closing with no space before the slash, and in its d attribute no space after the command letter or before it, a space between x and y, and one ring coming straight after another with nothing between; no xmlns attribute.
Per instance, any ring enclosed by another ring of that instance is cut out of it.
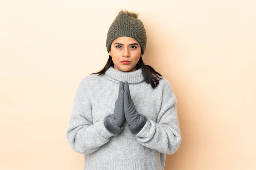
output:
<svg viewBox="0 0 256 170"><path fill-rule="evenodd" d="M85 81L85 79L81 81L76 91L66 132L67 141L72 149L83 154L95 152L109 142L111 136L116 136L106 129L103 119L93 124L92 105L86 92Z"/></svg>

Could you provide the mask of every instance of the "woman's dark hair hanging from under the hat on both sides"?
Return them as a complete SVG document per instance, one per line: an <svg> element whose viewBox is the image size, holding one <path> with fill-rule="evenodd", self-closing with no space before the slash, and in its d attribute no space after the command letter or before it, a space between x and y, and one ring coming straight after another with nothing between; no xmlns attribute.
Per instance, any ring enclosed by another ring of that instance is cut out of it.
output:
<svg viewBox="0 0 256 170"><path fill-rule="evenodd" d="M98 76L104 75L108 68L110 68L111 66L114 66L114 63L112 57L109 56L104 68L101 71L92 74L99 74ZM142 57L140 57L140 60L137 63L136 67L137 69L141 68L145 82L148 84L150 83L153 89L156 88L157 85L159 84L159 79L163 79L162 75L155 71L153 67L151 67L150 65L145 65L145 63L142 60Z"/></svg>

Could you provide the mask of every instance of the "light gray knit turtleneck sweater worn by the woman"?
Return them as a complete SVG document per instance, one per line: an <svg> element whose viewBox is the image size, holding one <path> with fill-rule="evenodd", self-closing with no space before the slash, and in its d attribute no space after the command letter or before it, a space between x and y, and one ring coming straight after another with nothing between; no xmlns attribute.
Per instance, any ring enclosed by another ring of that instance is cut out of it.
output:
<svg viewBox="0 0 256 170"><path fill-rule="evenodd" d="M104 118L113 114L121 80L128 81L137 112L148 118L136 135L126 121L118 135L104 125ZM93 74L81 80L67 140L73 150L84 154L84 170L163 170L166 154L175 153L181 142L176 107L165 78L153 89L141 68L122 72L110 67L103 76Z"/></svg>

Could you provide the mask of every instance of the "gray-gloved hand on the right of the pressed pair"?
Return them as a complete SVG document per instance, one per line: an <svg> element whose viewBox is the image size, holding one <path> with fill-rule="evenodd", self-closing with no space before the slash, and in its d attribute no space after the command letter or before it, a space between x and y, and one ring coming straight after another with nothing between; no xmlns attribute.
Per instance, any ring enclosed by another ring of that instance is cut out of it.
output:
<svg viewBox="0 0 256 170"><path fill-rule="evenodd" d="M129 124L129 130L132 134L137 134L147 122L147 117L136 111L127 81L125 81L124 85L124 111L125 119Z"/></svg>

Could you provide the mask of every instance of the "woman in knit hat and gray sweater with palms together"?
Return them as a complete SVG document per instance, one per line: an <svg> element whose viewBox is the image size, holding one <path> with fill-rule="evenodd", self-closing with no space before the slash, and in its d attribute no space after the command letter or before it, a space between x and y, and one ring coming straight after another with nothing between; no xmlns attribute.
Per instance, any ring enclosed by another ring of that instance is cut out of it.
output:
<svg viewBox="0 0 256 170"><path fill-rule="evenodd" d="M170 83L143 63L146 32L136 13L119 11L106 46L108 62L81 80L67 140L84 170L163 170L181 136Z"/></svg>

